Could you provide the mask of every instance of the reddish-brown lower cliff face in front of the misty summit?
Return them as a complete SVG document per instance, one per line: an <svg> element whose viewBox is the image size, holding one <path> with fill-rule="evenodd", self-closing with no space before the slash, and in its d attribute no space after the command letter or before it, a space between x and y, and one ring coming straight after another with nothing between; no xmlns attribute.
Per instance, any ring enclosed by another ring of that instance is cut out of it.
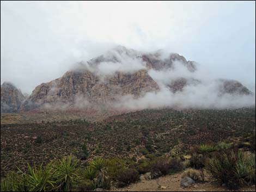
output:
<svg viewBox="0 0 256 192"><path fill-rule="evenodd" d="M159 86L146 70L135 73L116 72L101 78L88 70L68 71L61 78L36 86L32 95L22 105L23 110L35 109L44 103L78 104L79 98L91 103L104 104L117 101L120 96L143 95L157 91Z"/></svg>

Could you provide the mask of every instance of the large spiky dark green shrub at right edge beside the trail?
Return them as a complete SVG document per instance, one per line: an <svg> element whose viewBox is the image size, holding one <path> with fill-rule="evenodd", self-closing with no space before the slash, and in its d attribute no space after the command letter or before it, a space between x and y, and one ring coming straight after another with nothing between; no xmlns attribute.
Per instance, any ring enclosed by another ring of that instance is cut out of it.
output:
<svg viewBox="0 0 256 192"><path fill-rule="evenodd" d="M206 169L229 189L239 189L243 184L255 183L255 154L248 157L233 150L217 153L209 160Z"/></svg>

